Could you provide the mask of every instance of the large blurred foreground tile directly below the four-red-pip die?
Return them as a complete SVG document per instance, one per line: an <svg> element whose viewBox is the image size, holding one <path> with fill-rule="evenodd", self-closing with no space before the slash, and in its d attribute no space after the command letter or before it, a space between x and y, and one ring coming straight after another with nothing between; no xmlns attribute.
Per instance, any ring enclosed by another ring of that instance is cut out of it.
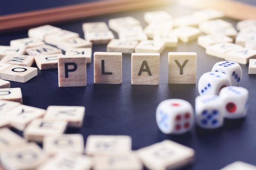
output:
<svg viewBox="0 0 256 170"><path fill-rule="evenodd" d="M165 140L137 150L144 165L150 170L174 170L193 162L195 151Z"/></svg>

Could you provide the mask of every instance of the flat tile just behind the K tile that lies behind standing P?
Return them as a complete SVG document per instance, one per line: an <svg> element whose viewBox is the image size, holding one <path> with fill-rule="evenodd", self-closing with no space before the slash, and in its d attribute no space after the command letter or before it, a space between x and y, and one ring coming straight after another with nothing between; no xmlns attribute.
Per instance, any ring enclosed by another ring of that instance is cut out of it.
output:
<svg viewBox="0 0 256 170"><path fill-rule="evenodd" d="M92 48L92 42L87 41L83 38L72 38L65 41L58 42L57 47L62 49L63 51L67 51L69 49L74 48Z"/></svg>

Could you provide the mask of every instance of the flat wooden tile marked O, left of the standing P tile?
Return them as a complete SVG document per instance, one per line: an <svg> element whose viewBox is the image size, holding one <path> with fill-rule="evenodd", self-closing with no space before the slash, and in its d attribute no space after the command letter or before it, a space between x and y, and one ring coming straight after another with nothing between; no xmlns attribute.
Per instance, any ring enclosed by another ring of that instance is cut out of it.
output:
<svg viewBox="0 0 256 170"><path fill-rule="evenodd" d="M37 76L37 68L12 65L0 71L0 79L25 83Z"/></svg>

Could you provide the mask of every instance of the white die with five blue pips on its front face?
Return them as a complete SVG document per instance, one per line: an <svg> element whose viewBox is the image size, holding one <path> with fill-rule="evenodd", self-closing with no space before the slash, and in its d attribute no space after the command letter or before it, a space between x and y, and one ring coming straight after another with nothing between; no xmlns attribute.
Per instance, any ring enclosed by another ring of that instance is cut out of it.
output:
<svg viewBox="0 0 256 170"><path fill-rule="evenodd" d="M217 95L205 95L195 98L195 115L198 126L216 129L223 125L225 108Z"/></svg>

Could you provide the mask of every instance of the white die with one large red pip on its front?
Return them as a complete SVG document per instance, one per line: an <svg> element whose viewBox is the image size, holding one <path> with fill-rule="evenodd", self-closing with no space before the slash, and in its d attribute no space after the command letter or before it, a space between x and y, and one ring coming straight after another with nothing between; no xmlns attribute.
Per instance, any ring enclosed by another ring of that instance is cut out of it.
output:
<svg viewBox="0 0 256 170"><path fill-rule="evenodd" d="M225 104L225 117L237 119L246 116L249 92L246 88L229 86L222 88L220 99Z"/></svg>

